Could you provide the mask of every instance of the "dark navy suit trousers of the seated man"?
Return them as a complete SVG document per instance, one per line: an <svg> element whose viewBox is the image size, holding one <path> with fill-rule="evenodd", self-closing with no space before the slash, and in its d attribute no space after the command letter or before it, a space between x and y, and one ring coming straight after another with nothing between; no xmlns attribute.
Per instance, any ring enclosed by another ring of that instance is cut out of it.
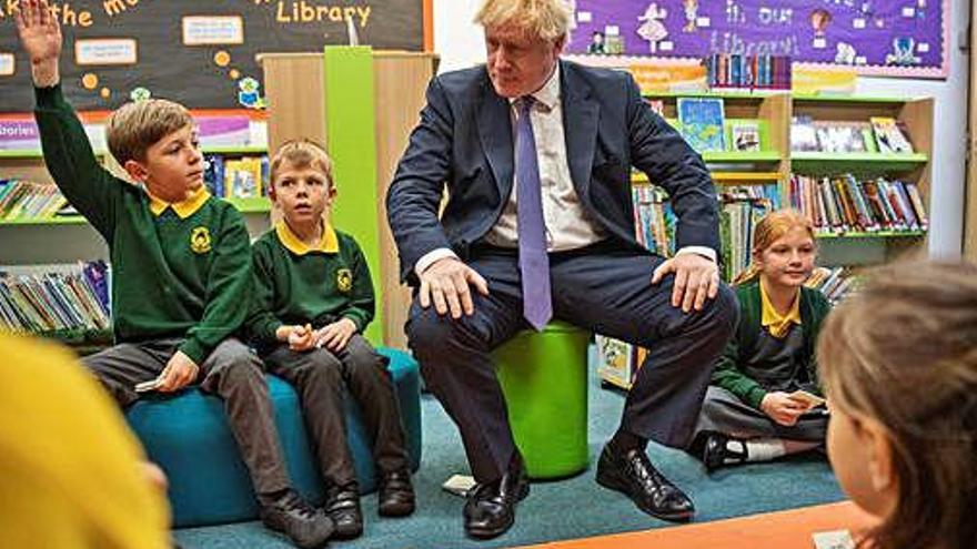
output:
<svg viewBox="0 0 977 549"><path fill-rule="evenodd" d="M426 387L457 425L480 482L500 478L516 450L490 357L492 349L528 328L516 255L514 250L473 248L466 263L488 282L490 292L473 292L474 314L442 317L433 306L422 308L415 295L406 324ZM621 428L684 448L738 308L726 285L701 312L673 307L674 276L651 284L663 262L612 241L551 253L553 312L556 319L649 349L627 394Z"/></svg>

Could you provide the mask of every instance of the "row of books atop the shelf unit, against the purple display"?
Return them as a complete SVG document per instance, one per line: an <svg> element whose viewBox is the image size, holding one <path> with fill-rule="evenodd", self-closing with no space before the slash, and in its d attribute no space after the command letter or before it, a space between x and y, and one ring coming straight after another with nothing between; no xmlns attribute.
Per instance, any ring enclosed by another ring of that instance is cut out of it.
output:
<svg viewBox="0 0 977 549"><path fill-rule="evenodd" d="M713 53L703 60L703 64L709 88L790 89L792 65L787 55Z"/></svg>

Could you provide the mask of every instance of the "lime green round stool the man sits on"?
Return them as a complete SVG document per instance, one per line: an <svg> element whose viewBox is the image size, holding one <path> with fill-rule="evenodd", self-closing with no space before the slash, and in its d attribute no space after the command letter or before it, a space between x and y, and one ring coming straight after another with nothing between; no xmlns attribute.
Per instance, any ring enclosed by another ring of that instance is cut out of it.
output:
<svg viewBox="0 0 977 549"><path fill-rule="evenodd" d="M587 344L565 323L520 332L492 353L508 420L531 478L587 468Z"/></svg>

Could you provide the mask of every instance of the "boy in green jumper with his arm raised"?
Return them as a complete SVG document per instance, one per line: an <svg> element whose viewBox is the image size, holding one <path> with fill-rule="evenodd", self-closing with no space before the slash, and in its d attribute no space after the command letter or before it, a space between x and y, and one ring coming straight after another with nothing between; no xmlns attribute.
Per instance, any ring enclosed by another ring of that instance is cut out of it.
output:
<svg viewBox="0 0 977 549"><path fill-rule="evenodd" d="M44 161L112 261L117 345L85 366L122 407L139 398L137 385L171 393L201 382L224 400L264 523L300 547L321 546L332 520L291 488L261 362L233 337L248 314L248 232L233 206L203 186L190 113L162 100L113 112L109 149L141 185L117 179L62 96L61 30L47 1L21 0L17 28L31 60Z"/></svg>

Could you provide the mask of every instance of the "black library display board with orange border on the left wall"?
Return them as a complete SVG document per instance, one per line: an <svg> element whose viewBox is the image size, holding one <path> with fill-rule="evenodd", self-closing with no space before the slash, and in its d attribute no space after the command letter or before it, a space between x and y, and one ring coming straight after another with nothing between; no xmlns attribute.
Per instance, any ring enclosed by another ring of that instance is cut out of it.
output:
<svg viewBox="0 0 977 549"><path fill-rule="evenodd" d="M62 85L79 110L114 109L147 96L194 109L261 109L264 52L321 51L349 40L423 51L431 0L73 0L51 1L64 47ZM19 51L13 10L0 0L0 111L33 108L30 62ZM430 47L430 45L429 45Z"/></svg>

